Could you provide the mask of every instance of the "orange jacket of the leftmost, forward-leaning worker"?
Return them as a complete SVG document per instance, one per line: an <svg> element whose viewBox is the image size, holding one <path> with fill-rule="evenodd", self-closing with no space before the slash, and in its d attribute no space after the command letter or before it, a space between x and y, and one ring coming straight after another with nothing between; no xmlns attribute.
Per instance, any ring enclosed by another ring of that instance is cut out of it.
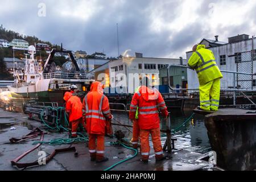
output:
<svg viewBox="0 0 256 182"><path fill-rule="evenodd" d="M82 118L82 102L79 97L66 92L63 98L66 101L66 112L69 113L69 122Z"/></svg>

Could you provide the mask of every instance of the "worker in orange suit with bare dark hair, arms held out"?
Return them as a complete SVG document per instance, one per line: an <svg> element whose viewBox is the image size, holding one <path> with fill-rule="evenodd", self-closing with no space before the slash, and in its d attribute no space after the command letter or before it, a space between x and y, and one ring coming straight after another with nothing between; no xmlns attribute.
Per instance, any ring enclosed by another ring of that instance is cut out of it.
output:
<svg viewBox="0 0 256 182"><path fill-rule="evenodd" d="M160 119L158 109L160 109L165 118L168 117L168 110L162 95L157 89L151 88L150 81L147 77L143 78L141 88L134 94L131 101L129 118L132 120L135 119L137 107L139 107L138 123L140 128L142 162L148 162L150 154L150 134L154 145L156 161L165 159L160 140Z"/></svg>

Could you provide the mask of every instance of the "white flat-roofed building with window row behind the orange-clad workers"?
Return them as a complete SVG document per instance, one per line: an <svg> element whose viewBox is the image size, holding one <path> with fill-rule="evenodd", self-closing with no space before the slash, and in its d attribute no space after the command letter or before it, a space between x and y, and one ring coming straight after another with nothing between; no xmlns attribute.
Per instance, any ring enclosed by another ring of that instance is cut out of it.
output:
<svg viewBox="0 0 256 182"><path fill-rule="evenodd" d="M111 88L122 86L123 92L134 93L134 88L139 86L139 80L143 76L151 79L152 85L159 85L159 69L168 64L180 64L180 59L165 59L155 57L123 57L109 62L109 78ZM124 78L126 77L126 78Z"/></svg>

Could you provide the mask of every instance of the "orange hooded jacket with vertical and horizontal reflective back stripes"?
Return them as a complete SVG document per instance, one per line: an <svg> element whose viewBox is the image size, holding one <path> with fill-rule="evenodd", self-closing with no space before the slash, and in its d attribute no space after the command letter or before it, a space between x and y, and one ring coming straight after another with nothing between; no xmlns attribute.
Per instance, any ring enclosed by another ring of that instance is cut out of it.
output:
<svg viewBox="0 0 256 182"><path fill-rule="evenodd" d="M88 134L105 135L106 121L112 119L109 100L100 82L93 82L90 90L82 102L83 121L86 121Z"/></svg>

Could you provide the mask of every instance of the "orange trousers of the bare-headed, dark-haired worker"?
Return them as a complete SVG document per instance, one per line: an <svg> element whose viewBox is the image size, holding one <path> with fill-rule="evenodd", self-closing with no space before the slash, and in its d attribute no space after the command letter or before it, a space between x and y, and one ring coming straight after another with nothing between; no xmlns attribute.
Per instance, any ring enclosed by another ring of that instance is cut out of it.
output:
<svg viewBox="0 0 256 182"><path fill-rule="evenodd" d="M155 158L161 159L163 158L163 148L160 140L160 128L151 129L151 130L141 130L141 155L142 160L148 160L150 154L150 144L149 144L149 135L151 134L154 150L155 150Z"/></svg>

